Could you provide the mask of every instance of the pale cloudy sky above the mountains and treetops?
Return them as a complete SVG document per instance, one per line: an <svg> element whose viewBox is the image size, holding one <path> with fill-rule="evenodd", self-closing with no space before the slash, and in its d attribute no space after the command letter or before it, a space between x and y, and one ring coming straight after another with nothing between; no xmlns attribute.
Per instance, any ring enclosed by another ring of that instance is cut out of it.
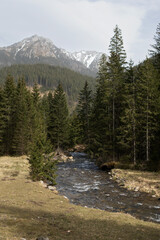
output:
<svg viewBox="0 0 160 240"><path fill-rule="evenodd" d="M160 23L160 0L0 0L0 47L32 35L68 51L108 54L116 26L127 58L143 61Z"/></svg>

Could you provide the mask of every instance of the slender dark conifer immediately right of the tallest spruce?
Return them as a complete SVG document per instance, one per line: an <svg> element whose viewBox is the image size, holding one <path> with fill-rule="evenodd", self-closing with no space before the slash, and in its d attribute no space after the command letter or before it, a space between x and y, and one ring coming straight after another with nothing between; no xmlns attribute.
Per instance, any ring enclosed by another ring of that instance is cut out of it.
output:
<svg viewBox="0 0 160 240"><path fill-rule="evenodd" d="M133 62L130 61L129 69L126 72L126 82L124 85L124 112L121 116L121 125L119 127L119 144L121 154L125 160L137 163L136 148L136 78Z"/></svg>

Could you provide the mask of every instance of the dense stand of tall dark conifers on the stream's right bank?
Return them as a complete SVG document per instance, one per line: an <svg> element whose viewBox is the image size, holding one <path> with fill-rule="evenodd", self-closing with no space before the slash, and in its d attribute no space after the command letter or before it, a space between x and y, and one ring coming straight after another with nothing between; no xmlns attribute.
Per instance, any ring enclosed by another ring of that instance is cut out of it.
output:
<svg viewBox="0 0 160 240"><path fill-rule="evenodd" d="M114 29L109 56L102 55L96 93L86 83L73 118L78 141L99 162L160 169L160 24L151 57L134 66L126 61L121 30ZM120 165L119 165L120 166Z"/></svg>

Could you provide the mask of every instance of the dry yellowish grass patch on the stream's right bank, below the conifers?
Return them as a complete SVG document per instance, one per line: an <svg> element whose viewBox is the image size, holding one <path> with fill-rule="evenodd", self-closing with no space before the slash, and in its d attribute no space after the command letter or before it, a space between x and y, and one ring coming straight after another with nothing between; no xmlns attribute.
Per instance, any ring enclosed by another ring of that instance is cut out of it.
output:
<svg viewBox="0 0 160 240"><path fill-rule="evenodd" d="M129 190L147 192L160 197L160 173L113 169L114 179Z"/></svg>

